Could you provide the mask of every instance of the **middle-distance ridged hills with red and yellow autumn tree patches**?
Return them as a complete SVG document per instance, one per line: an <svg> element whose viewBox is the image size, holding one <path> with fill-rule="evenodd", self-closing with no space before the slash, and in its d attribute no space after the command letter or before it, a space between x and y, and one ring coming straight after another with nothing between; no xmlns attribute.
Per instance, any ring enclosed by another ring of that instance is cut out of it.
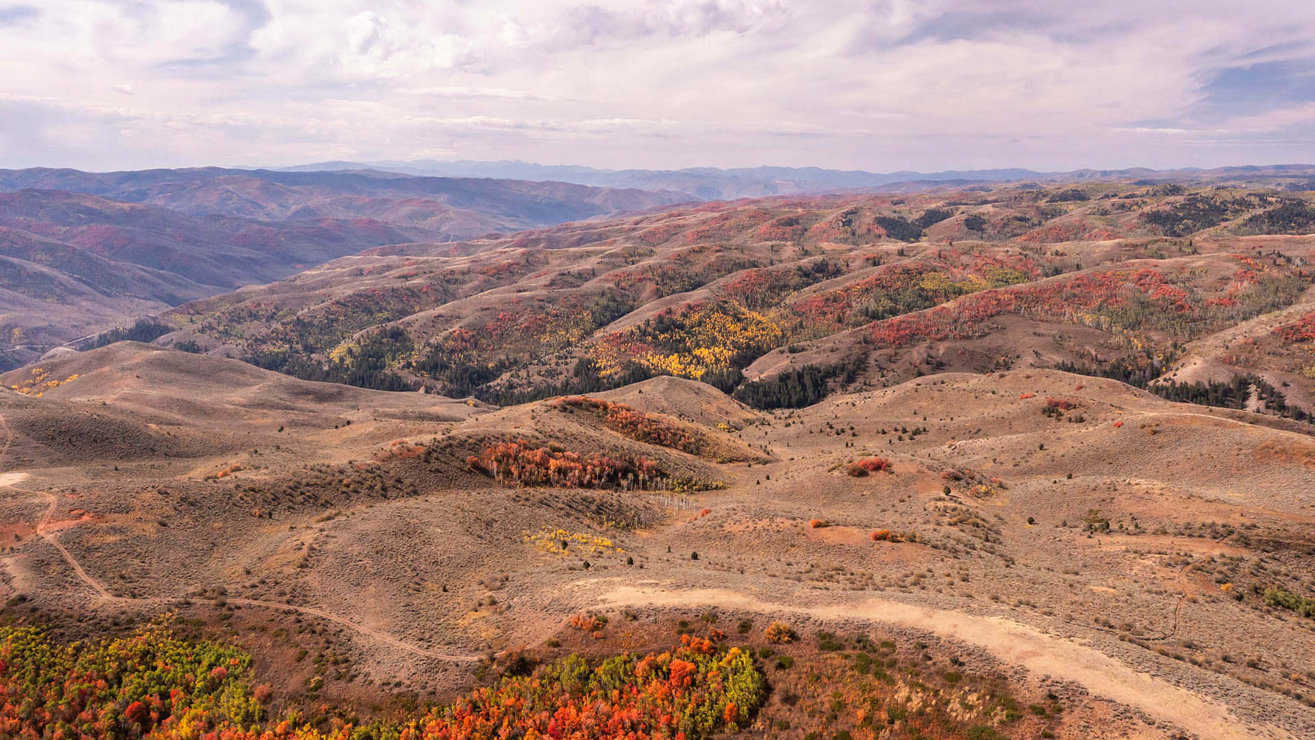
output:
<svg viewBox="0 0 1315 740"><path fill-rule="evenodd" d="M1308 338L1241 370L1236 342L1197 348L1278 330L1274 311L1301 320L1310 232L1307 192L1174 184L740 200L383 246L188 303L156 330L306 379L494 403L676 375L792 407L1039 366L1165 375L1172 398L1239 407L1258 381L1297 413Z"/></svg>

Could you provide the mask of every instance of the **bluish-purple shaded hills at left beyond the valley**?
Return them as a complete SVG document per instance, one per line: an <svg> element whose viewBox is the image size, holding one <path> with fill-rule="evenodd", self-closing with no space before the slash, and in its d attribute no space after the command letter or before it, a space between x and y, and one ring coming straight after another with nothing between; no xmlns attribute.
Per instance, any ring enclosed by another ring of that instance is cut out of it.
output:
<svg viewBox="0 0 1315 740"><path fill-rule="evenodd" d="M383 172L0 170L0 366L377 245L469 238L677 200Z"/></svg>

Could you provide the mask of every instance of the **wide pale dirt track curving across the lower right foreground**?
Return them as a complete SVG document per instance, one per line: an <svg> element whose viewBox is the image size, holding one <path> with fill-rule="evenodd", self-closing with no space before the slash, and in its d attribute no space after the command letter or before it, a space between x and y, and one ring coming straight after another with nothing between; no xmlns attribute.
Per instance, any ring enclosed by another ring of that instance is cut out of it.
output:
<svg viewBox="0 0 1315 740"><path fill-rule="evenodd" d="M1076 681L1097 697L1136 707L1148 716L1181 727L1203 740L1257 737L1295 740L1291 733L1273 726L1248 727L1223 704L1148 673L1134 670L1095 648L1045 635L1007 619L973 616L876 598L864 598L847 606L800 607L767 602L725 589L663 590L617 586L602 594L600 602L605 606L680 608L717 606L760 614L856 619L910 627L985 648L1001 661L1020 665L1038 675Z"/></svg>

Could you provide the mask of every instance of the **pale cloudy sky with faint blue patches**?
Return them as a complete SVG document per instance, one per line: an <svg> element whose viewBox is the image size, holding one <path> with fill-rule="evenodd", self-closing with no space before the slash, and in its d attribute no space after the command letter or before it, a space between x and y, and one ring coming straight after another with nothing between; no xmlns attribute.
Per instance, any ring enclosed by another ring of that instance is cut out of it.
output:
<svg viewBox="0 0 1315 740"><path fill-rule="evenodd" d="M1310 0L0 0L0 167L1315 162Z"/></svg>

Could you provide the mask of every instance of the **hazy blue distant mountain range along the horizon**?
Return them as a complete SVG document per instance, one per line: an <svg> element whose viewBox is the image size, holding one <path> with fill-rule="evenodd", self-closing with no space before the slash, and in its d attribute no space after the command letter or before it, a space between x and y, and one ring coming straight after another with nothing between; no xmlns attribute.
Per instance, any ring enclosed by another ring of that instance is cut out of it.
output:
<svg viewBox="0 0 1315 740"><path fill-rule="evenodd" d="M1276 165L1220 167L1215 170L1074 170L1040 172L1022 167L998 170L944 170L939 172L865 172L861 170L825 170L821 167L692 167L685 170L600 170L572 165L535 165L533 162L417 159L409 162L317 162L283 167L281 171L356 171L379 174L400 172L417 176L504 178L515 180L555 180L609 188L639 188L652 192L679 192L696 200L734 200L771 195L814 195L839 191L911 191L928 186L959 187L973 183L1024 182L1045 183L1070 180L1136 180L1208 184L1220 179L1255 178L1248 186L1282 184L1286 179L1315 176L1315 165Z"/></svg>

